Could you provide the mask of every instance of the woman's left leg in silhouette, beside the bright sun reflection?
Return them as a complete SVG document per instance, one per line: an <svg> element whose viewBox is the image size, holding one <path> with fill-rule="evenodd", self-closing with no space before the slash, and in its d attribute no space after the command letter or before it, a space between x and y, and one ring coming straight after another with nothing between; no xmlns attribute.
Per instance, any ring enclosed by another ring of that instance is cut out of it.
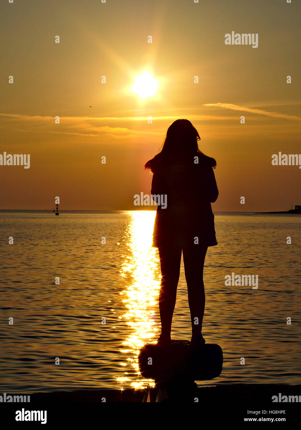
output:
<svg viewBox="0 0 301 430"><path fill-rule="evenodd" d="M161 337L170 338L173 310L176 304L176 288L179 282L182 257L181 246L160 247L161 289L159 310L161 318Z"/></svg>

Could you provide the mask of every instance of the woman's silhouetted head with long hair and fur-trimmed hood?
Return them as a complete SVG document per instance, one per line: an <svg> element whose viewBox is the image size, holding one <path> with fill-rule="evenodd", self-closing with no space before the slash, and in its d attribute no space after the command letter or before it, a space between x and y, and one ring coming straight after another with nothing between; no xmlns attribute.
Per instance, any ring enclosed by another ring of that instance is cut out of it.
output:
<svg viewBox="0 0 301 430"><path fill-rule="evenodd" d="M154 172L178 161L189 162L194 156L199 156L202 164L215 169L216 160L199 150L199 140L201 140L200 135L189 120L174 121L167 129L161 150L146 162L144 169Z"/></svg>

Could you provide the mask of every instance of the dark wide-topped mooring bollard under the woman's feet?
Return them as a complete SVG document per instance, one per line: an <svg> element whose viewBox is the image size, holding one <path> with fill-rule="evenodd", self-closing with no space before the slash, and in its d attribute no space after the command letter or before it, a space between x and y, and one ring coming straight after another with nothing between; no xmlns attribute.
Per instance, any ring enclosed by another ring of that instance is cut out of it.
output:
<svg viewBox="0 0 301 430"><path fill-rule="evenodd" d="M154 379L155 387L169 400L193 401L195 380L213 379L222 372L222 348L204 344L193 351L189 341L172 341L170 347L146 344L138 356L144 378Z"/></svg>

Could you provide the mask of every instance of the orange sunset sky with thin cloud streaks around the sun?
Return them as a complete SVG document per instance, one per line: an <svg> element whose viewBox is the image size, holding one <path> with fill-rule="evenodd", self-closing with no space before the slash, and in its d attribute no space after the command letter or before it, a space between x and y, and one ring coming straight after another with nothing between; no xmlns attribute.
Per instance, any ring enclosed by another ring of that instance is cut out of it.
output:
<svg viewBox="0 0 301 430"><path fill-rule="evenodd" d="M0 154L30 154L30 169L0 166L1 209L51 209L55 196L61 209L137 209L134 194L150 193L143 165L177 118L192 121L201 150L217 160L214 211L301 204L301 169L271 164L278 151L301 154L300 3L32 0L1 8ZM258 33L258 48L225 45L231 31ZM130 90L144 70L160 83L146 100Z"/></svg>

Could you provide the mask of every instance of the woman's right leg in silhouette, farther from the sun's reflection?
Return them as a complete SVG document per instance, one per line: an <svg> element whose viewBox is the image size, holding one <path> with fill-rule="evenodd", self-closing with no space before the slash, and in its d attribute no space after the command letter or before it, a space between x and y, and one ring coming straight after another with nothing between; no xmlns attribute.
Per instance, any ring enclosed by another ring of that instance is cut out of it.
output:
<svg viewBox="0 0 301 430"><path fill-rule="evenodd" d="M185 278L192 323L192 337L200 337L205 309L205 290L203 282L204 261L207 246L190 244L183 247Z"/></svg>

